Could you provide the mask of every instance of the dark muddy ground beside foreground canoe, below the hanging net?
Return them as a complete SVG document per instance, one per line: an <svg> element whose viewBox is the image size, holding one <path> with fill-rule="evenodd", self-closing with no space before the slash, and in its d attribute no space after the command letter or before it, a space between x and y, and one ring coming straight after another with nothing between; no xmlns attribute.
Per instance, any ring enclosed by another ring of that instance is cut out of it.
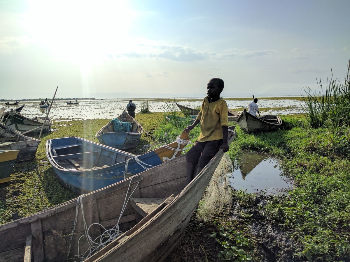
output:
<svg viewBox="0 0 350 262"><path fill-rule="evenodd" d="M254 255L251 261L259 262L292 262L293 242L286 233L271 225L259 211L259 205L266 203L267 197L259 195L250 206L241 206L233 200L228 206L228 212L218 214L221 221L236 225L233 230L244 230L250 239L254 239ZM248 218L248 219L247 219ZM212 220L214 220L212 219ZM216 225L210 221L198 221L194 215L186 229L186 233L174 250L165 259L165 262L205 262L223 261L218 253L223 250L214 237L210 235L218 232ZM233 261L233 260L232 260Z"/></svg>

